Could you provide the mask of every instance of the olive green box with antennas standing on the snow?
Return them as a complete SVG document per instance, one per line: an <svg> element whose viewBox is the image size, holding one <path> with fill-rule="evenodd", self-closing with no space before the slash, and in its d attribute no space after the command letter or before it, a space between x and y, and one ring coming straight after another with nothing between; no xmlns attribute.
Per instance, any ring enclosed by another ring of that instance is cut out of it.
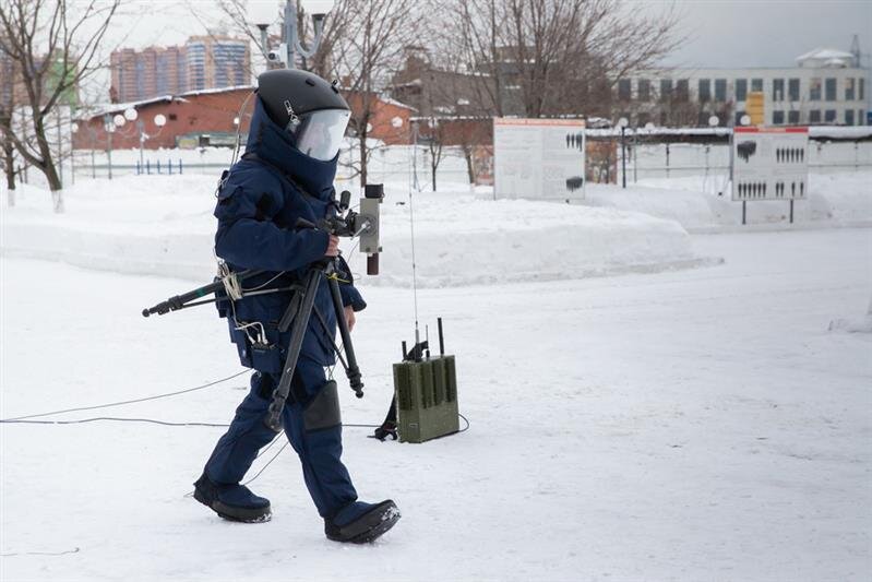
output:
<svg viewBox="0 0 872 582"><path fill-rule="evenodd" d="M461 428L454 356L394 364L399 442L425 442Z"/></svg>

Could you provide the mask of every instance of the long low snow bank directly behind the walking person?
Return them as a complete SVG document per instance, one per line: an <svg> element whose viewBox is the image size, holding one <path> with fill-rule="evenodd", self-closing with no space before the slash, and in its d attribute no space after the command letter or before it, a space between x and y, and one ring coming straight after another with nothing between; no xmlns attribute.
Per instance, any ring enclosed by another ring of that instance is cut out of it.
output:
<svg viewBox="0 0 872 582"><path fill-rule="evenodd" d="M408 190L387 185L382 205L381 272L371 285L411 284ZM25 188L3 207L3 252L92 269L206 281L212 257L215 179L127 176L80 181L67 212L48 192ZM617 209L547 202L483 201L468 193L414 200L421 286L577 278L704 264L677 223ZM355 271L366 271L344 241Z"/></svg>

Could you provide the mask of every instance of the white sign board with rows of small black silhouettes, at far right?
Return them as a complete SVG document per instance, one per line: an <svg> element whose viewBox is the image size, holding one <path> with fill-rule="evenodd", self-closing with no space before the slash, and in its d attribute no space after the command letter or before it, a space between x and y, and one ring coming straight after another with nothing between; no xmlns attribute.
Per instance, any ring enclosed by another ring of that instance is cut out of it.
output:
<svg viewBox="0 0 872 582"><path fill-rule="evenodd" d="M736 128L733 200L809 197L809 128Z"/></svg>

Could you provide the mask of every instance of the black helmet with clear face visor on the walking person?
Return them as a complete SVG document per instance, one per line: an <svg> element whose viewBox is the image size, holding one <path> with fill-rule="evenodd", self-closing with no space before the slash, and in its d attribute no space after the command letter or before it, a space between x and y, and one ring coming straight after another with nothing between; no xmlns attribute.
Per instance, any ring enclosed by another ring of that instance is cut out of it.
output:
<svg viewBox="0 0 872 582"><path fill-rule="evenodd" d="M258 94L298 150L321 161L336 157L351 110L334 84L308 71L276 69L258 76Z"/></svg>

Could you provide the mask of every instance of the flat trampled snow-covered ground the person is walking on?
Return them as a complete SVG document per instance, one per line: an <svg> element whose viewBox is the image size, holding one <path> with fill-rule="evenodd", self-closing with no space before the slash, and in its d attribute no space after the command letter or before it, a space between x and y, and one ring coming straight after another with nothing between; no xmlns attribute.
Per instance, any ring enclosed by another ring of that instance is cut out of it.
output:
<svg viewBox="0 0 872 582"><path fill-rule="evenodd" d="M241 525L184 497L219 428L2 425L0 578L868 579L872 337L827 325L867 312L872 230L695 246L726 262L420 292L421 321L445 318L471 427L419 446L346 429L360 492L404 512L374 546L323 537L288 450L252 484L273 521ZM239 370L212 308L140 317L188 280L9 256L0 280L2 417ZM351 424L381 421L411 333L408 289L365 287ZM64 418L225 423L243 385Z"/></svg>

